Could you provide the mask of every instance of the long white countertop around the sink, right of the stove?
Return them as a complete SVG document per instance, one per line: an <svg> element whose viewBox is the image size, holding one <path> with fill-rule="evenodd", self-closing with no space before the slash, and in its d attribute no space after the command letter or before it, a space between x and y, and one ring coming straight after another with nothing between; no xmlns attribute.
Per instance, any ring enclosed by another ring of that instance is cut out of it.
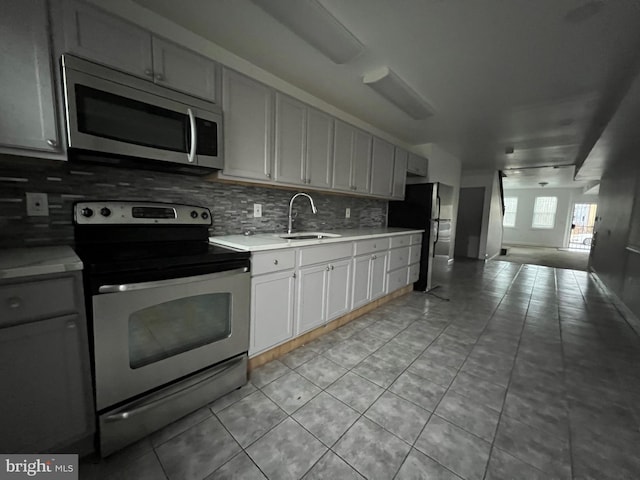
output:
<svg viewBox="0 0 640 480"><path fill-rule="evenodd" d="M407 228L362 228L327 230L324 233L338 234L340 236L333 238L313 238L310 240L286 240L278 237L278 235L282 235L282 233L256 233L254 235L222 235L209 237L209 241L216 245L245 252L259 252L279 248L306 247L309 245L323 245L327 243L349 242L353 240L366 240L369 238L409 235L422 232L424 232L424 230L411 230Z"/></svg>

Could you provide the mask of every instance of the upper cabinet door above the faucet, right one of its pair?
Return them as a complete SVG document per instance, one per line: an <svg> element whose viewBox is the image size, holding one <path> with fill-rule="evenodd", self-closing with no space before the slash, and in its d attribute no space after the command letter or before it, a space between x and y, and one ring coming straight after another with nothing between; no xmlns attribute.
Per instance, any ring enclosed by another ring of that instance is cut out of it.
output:
<svg viewBox="0 0 640 480"><path fill-rule="evenodd" d="M307 184L331 188L333 167L333 118L314 108L307 109Z"/></svg>

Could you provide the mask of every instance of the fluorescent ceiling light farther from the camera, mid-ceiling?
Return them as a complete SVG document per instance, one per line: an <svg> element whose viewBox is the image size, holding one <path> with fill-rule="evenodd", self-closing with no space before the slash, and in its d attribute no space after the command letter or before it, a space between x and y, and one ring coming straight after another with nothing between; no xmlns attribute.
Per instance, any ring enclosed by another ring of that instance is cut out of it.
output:
<svg viewBox="0 0 640 480"><path fill-rule="evenodd" d="M414 120L423 120L434 114L433 107L420 97L389 67L367 73L362 82Z"/></svg>

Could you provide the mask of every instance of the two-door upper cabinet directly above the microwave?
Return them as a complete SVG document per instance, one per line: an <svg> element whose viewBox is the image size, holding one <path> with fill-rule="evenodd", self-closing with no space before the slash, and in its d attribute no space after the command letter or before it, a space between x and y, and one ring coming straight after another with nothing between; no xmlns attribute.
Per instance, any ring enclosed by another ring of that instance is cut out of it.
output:
<svg viewBox="0 0 640 480"><path fill-rule="evenodd" d="M75 0L65 1L65 51L158 85L216 101L217 64Z"/></svg>

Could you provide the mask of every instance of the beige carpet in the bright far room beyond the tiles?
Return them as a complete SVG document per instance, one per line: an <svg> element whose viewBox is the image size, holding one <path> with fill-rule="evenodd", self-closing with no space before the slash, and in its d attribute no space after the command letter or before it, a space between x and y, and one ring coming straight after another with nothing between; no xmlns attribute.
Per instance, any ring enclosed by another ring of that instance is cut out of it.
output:
<svg viewBox="0 0 640 480"><path fill-rule="evenodd" d="M567 251L566 249L547 247L514 247L505 245L506 255L499 255L494 260L546 267L568 268L587 271L589 252Z"/></svg>

